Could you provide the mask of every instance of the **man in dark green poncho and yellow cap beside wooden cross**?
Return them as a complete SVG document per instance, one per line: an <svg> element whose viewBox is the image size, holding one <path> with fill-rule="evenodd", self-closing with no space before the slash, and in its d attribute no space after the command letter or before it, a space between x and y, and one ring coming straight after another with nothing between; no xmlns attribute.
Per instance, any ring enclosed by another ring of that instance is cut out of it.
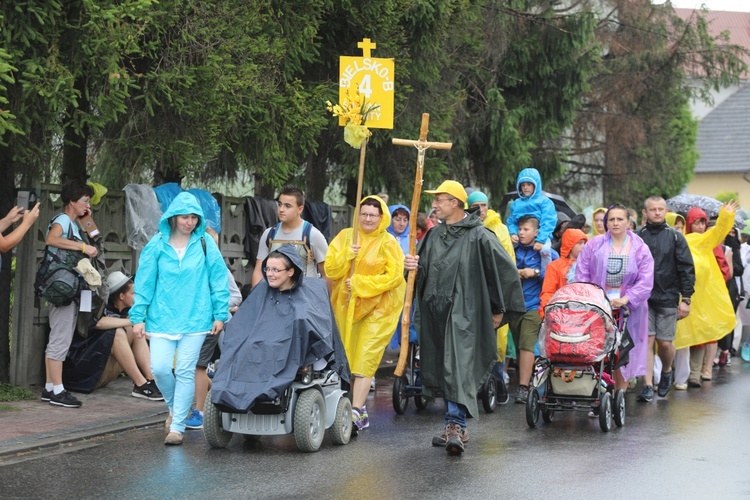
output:
<svg viewBox="0 0 750 500"><path fill-rule="evenodd" d="M477 415L477 392L497 362L496 330L526 308L515 263L476 213L464 211L464 187L445 181L425 193L435 195L443 224L427 232L404 267L418 271L422 393L442 392L446 404L445 431L432 444L460 454L469 440L466 418Z"/></svg>

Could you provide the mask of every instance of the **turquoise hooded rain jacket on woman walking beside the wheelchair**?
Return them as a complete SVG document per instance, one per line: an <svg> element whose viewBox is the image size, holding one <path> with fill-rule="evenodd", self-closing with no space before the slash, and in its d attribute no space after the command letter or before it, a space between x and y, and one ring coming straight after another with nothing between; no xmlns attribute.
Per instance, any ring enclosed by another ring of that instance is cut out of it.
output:
<svg viewBox="0 0 750 500"><path fill-rule="evenodd" d="M189 214L200 220L180 262L169 245L169 219ZM227 268L213 238L205 237L205 232L206 219L198 200L187 192L178 194L138 261L135 304L130 309L133 324L145 321L149 334L175 335L208 332L215 320L229 319Z"/></svg>

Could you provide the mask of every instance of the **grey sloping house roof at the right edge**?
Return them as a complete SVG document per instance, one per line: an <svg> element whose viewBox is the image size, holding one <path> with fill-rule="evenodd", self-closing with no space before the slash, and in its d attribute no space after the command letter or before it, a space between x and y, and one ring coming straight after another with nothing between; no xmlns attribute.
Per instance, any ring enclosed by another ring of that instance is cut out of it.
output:
<svg viewBox="0 0 750 500"><path fill-rule="evenodd" d="M698 125L696 174L750 171L750 85L716 106Z"/></svg>

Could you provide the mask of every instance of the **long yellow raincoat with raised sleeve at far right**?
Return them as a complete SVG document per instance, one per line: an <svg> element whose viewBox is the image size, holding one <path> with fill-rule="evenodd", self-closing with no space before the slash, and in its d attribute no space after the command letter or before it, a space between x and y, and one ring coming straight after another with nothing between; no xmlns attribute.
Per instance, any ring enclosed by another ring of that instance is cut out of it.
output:
<svg viewBox="0 0 750 500"><path fill-rule="evenodd" d="M676 349L715 342L736 325L734 307L713 253L714 247L724 241L733 224L734 214L722 209L715 227L703 234L685 235L695 264L695 293L690 314L677 322ZM685 227L689 229L690 226Z"/></svg>

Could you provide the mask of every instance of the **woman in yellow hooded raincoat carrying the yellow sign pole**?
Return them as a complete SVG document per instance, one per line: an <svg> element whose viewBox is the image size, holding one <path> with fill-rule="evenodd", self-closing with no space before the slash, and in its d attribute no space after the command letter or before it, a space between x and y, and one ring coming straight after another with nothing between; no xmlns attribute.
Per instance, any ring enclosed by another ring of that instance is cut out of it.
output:
<svg viewBox="0 0 750 500"><path fill-rule="evenodd" d="M352 420L358 429L369 426L370 381L404 305L404 252L386 231L390 225L385 202L364 198L357 244L352 245L354 230L344 229L331 241L325 260L326 276L333 281L333 313L353 375Z"/></svg>

